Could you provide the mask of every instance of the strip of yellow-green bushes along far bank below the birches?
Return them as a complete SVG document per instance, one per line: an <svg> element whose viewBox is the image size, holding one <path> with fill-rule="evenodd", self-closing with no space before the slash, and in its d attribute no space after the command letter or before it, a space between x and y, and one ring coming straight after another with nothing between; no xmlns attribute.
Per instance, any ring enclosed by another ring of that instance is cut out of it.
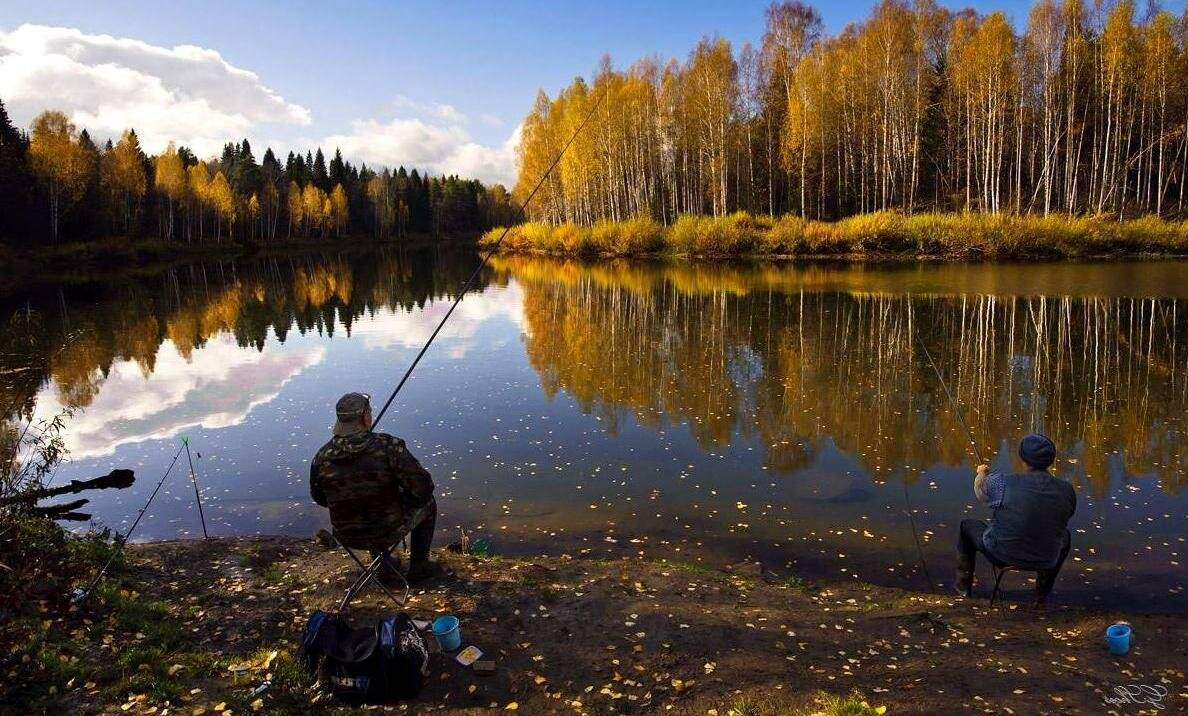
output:
<svg viewBox="0 0 1188 716"><path fill-rule="evenodd" d="M504 228L486 232L489 248ZM511 227L500 251L568 256L1073 259L1188 255L1188 221L1144 216L914 214L877 211L839 221L797 216L682 215L590 226L533 221Z"/></svg>

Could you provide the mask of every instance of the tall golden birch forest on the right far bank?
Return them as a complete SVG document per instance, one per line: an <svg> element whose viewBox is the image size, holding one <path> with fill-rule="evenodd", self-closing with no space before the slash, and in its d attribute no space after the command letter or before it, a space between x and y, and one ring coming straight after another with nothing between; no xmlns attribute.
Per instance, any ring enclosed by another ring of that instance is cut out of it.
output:
<svg viewBox="0 0 1188 716"><path fill-rule="evenodd" d="M757 45L604 59L593 82L537 96L514 195L601 102L531 218L1182 216L1188 14L1041 0L1015 23L884 0L828 36L813 7L777 2Z"/></svg>

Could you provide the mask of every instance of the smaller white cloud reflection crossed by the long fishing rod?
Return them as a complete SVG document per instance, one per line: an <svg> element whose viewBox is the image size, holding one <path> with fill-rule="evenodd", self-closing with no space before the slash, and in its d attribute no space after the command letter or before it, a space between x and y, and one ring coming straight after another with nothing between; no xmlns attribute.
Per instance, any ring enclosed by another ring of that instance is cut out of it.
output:
<svg viewBox="0 0 1188 716"><path fill-rule="evenodd" d="M352 327L352 337L360 337L366 348L419 348L429 340L434 329L446 316L451 300L443 299L426 304L412 312L377 311L374 316L362 316ZM504 317L513 324L524 325L524 300L519 284L506 289L488 287L482 293L468 293L450 316L438 338L454 338L449 357L462 359L474 348L474 335L487 321Z"/></svg>

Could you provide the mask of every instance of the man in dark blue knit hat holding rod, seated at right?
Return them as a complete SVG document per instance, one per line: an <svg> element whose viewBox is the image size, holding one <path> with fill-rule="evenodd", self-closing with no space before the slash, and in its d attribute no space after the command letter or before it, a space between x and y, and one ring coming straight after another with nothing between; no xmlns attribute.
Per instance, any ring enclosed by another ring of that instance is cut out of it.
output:
<svg viewBox="0 0 1188 716"><path fill-rule="evenodd" d="M1068 557L1068 520L1076 512L1076 492L1048 471L1056 460L1056 445L1047 436L1031 433L1023 438L1019 457L1028 469L1015 475L978 465L974 495L994 514L988 525L985 520L961 520L953 588L969 596L974 564L978 552L982 552L999 564L1035 571L1036 606L1041 607Z"/></svg>

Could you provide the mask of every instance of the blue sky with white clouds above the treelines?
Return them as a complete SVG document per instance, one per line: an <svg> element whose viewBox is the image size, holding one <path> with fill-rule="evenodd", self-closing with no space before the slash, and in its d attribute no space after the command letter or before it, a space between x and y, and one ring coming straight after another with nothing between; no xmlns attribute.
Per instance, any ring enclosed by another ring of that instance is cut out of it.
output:
<svg viewBox="0 0 1188 716"><path fill-rule="evenodd" d="M1030 7L1018 0L946 5L1000 8L1017 24L1025 21ZM219 132L241 131L254 144L303 148L335 141L356 159L506 179L513 132L538 88L552 93L575 75L589 75L604 53L621 66L649 53L683 58L703 34L718 33L737 46L758 44L766 6L750 0L0 0L0 99L20 122L27 122L38 104L61 104L97 134L133 121L151 150L166 135L209 150ZM864 18L871 6L817 4L830 32ZM12 33L25 24L58 30L26 31L14 39ZM61 28L81 31L82 37ZM132 72L115 72L109 43L94 39L102 34L150 47L119 47L114 64L124 63ZM77 51L80 44L86 52ZM213 50L232 69L208 63L191 71L188 62L214 61L171 57L177 66L162 83L154 82L152 49L178 45ZM70 58L65 69L61 56ZM6 68L5 62L12 64ZM257 76L254 88L245 85L227 96L213 87L220 71L244 81L240 70ZM202 91L188 84L198 75L208 84ZM103 89L89 97L83 91L87 82ZM187 101L194 97L201 101Z"/></svg>

